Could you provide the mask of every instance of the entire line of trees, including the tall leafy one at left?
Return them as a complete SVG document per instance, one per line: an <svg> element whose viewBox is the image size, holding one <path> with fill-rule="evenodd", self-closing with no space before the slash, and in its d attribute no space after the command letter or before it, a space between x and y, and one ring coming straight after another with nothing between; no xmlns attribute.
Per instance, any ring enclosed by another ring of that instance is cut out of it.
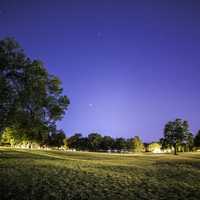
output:
<svg viewBox="0 0 200 200"><path fill-rule="evenodd" d="M32 60L13 38L0 40L0 143L24 147L57 147L87 151L145 151L147 144L139 136L112 138L91 133L66 138L58 130L70 105L63 95L58 77L50 74L39 60ZM163 149L192 151L200 148L200 131L194 137L182 119L168 122Z"/></svg>

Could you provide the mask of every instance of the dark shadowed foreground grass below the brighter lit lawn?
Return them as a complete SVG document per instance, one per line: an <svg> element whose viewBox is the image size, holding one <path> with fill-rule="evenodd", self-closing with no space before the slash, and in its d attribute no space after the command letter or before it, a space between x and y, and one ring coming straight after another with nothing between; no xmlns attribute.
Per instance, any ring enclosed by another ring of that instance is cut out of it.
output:
<svg viewBox="0 0 200 200"><path fill-rule="evenodd" d="M113 166L110 167L112 169ZM27 162L14 169L8 168L9 165L4 170L1 169L0 173L1 199L197 200L200 195L199 186L194 185L192 180L182 184L172 177L165 176L165 179L162 179L162 174L158 174L160 171L156 169L145 174L142 171L132 174L129 173L129 168L121 169L126 171L129 175L127 177L120 173L106 174L103 168L97 168L98 173L94 173L89 169L84 171L72 166L55 167L49 163L32 166ZM165 168L168 170L166 174L170 174L171 169Z"/></svg>

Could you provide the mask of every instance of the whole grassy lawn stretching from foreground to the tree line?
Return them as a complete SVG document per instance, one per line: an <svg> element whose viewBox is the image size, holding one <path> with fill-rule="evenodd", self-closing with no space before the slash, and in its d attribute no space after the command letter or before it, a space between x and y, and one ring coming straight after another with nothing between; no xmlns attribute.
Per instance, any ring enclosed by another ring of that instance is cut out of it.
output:
<svg viewBox="0 0 200 200"><path fill-rule="evenodd" d="M200 199L200 153L0 148L0 199Z"/></svg>

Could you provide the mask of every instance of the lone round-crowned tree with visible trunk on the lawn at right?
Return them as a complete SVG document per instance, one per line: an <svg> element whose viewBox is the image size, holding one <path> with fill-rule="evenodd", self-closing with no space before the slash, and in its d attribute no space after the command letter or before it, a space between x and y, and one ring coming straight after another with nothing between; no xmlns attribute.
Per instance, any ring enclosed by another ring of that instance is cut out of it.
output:
<svg viewBox="0 0 200 200"><path fill-rule="evenodd" d="M174 155L177 155L177 147L184 142L187 142L189 132L189 125L187 121L176 119L170 121L165 125L163 145L168 145L174 148Z"/></svg>

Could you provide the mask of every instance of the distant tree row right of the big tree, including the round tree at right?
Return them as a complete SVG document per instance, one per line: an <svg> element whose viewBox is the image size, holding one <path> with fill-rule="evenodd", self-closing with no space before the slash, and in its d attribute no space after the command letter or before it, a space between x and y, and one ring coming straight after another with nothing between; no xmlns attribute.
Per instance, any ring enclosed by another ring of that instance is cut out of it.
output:
<svg viewBox="0 0 200 200"><path fill-rule="evenodd" d="M159 145L163 150L173 149L174 154L177 154L177 151L189 152L200 149L200 130L195 136L188 130L187 121L176 119L165 125L164 137L158 142L143 143L139 136L125 139L91 133L83 137L82 134L77 133L68 138L67 144L69 148L76 150L112 152L145 152L149 151L151 144L154 144L157 147Z"/></svg>

